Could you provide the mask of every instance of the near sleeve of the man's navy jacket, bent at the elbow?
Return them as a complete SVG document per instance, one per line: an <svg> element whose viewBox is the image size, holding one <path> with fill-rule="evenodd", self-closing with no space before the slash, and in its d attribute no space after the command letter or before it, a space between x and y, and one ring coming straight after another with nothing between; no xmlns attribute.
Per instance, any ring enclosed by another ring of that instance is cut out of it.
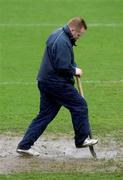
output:
<svg viewBox="0 0 123 180"><path fill-rule="evenodd" d="M56 72L61 76L75 75L74 57L72 57L71 48L64 40L57 41L53 46L53 64Z"/></svg>

